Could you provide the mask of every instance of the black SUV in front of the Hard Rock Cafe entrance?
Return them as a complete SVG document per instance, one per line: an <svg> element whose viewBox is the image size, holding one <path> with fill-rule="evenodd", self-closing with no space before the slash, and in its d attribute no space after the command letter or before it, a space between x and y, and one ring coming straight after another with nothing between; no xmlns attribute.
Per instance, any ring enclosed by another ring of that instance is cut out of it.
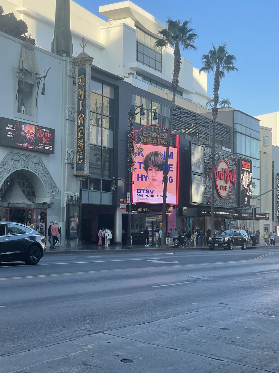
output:
<svg viewBox="0 0 279 373"><path fill-rule="evenodd" d="M245 250L247 246L248 235L243 229L222 229L209 237L209 249L224 248L232 250L234 247L241 247Z"/></svg>

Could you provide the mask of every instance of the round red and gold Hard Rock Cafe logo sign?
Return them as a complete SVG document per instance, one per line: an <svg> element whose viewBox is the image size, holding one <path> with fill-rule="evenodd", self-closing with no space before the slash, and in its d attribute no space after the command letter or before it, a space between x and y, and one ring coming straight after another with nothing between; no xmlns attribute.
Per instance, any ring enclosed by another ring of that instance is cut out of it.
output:
<svg viewBox="0 0 279 373"><path fill-rule="evenodd" d="M236 184L235 171L231 172L228 162L224 159L221 159L214 169L214 176L216 189L219 196L222 198L228 197L228 194L231 190L231 184Z"/></svg>

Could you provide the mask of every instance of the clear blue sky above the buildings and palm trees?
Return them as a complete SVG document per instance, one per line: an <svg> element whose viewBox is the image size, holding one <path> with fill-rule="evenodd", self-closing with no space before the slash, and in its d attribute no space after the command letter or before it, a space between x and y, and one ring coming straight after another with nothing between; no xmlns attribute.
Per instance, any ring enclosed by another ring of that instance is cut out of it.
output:
<svg viewBox="0 0 279 373"><path fill-rule="evenodd" d="M90 12L99 14L99 6L116 1L75 0ZM160 21L167 18L192 20L199 38L197 51L182 55L201 68L201 56L212 43L227 43L229 53L237 57L238 73L227 74L219 95L231 100L232 107L249 115L279 111L279 1L278 0L134 0ZM208 94L212 95L213 76L208 76Z"/></svg>

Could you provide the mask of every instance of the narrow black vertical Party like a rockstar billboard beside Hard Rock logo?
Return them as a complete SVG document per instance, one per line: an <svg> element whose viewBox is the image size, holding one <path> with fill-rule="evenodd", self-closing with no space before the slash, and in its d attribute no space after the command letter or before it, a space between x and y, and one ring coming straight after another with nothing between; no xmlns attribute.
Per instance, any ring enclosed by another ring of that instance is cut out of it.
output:
<svg viewBox="0 0 279 373"><path fill-rule="evenodd" d="M239 206L249 206L252 198L252 162L246 159L238 159L239 182Z"/></svg>

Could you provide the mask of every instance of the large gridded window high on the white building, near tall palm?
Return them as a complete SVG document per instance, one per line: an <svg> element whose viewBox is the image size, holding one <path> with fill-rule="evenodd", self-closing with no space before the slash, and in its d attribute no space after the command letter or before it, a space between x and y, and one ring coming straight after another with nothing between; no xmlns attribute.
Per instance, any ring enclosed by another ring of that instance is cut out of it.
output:
<svg viewBox="0 0 279 373"><path fill-rule="evenodd" d="M137 61L162 71L162 53L154 47L157 38L137 28Z"/></svg>

